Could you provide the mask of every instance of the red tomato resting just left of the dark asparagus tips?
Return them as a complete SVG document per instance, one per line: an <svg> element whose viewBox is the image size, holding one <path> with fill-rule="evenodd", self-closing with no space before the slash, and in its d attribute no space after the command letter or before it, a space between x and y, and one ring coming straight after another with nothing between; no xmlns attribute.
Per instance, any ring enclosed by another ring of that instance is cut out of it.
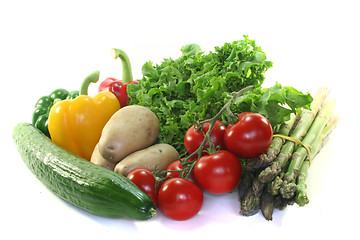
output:
<svg viewBox="0 0 360 240"><path fill-rule="evenodd" d="M242 167L239 159L231 152L202 156L194 167L196 183L213 194L228 193L239 183Z"/></svg>

